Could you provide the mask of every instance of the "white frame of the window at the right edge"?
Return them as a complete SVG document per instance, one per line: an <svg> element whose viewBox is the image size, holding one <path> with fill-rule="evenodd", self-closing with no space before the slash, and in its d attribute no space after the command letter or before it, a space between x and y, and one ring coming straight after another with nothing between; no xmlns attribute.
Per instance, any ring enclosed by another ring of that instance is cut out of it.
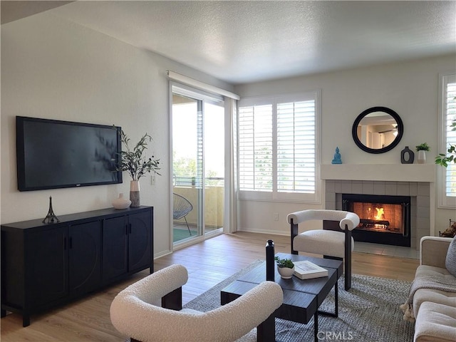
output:
<svg viewBox="0 0 456 342"><path fill-rule="evenodd" d="M438 144L440 153L447 153L447 84L456 83L456 74L439 75L439 120ZM451 165L455 165L453 162ZM450 164L449 164L450 166ZM446 192L447 167L437 166L437 207L456 209L456 197L447 196Z"/></svg>

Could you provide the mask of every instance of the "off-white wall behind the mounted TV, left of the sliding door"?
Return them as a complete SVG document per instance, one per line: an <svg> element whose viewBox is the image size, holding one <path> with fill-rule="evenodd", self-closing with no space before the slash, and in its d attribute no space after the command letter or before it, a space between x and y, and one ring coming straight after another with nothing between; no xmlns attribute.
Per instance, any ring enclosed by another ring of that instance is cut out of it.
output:
<svg viewBox="0 0 456 342"><path fill-rule="evenodd" d="M120 125L132 141L152 135L156 185L141 179L141 204L154 206L155 255L170 249L169 84L167 70L232 86L45 12L1 26L1 223L111 207L121 185L19 192L15 116Z"/></svg>

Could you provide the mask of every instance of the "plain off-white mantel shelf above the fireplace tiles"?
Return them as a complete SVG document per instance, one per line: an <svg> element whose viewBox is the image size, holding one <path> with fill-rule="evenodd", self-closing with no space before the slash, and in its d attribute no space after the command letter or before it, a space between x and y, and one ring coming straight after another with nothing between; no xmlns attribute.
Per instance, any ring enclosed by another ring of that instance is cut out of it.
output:
<svg viewBox="0 0 456 342"><path fill-rule="evenodd" d="M322 180L435 182L435 164L324 164Z"/></svg>

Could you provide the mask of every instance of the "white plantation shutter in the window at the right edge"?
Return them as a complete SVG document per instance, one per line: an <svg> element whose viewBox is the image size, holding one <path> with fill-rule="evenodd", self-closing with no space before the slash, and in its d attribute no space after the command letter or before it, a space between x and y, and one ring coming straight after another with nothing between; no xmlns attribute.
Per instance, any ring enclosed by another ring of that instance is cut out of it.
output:
<svg viewBox="0 0 456 342"><path fill-rule="evenodd" d="M454 77L453 77L454 78ZM452 130L452 122L456 120L456 82L453 79L452 82L448 82L447 80L447 91L446 91L446 120L445 120L445 128L446 128L446 146L448 148L449 145L456 145L456 131ZM446 150L447 150L446 148ZM446 152L445 150L445 152ZM446 177L445 177L445 189L446 195L448 197L456 197L456 164L451 162L448 164Z"/></svg>

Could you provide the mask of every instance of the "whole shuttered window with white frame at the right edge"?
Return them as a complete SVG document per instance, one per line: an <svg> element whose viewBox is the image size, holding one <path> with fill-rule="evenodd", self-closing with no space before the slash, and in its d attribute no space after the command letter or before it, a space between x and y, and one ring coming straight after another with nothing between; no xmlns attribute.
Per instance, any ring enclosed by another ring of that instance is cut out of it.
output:
<svg viewBox="0 0 456 342"><path fill-rule="evenodd" d="M450 145L456 145L456 75L441 76L441 113L440 113L440 153L447 154ZM439 207L456 207L456 164L448 162L447 167L439 167Z"/></svg>

